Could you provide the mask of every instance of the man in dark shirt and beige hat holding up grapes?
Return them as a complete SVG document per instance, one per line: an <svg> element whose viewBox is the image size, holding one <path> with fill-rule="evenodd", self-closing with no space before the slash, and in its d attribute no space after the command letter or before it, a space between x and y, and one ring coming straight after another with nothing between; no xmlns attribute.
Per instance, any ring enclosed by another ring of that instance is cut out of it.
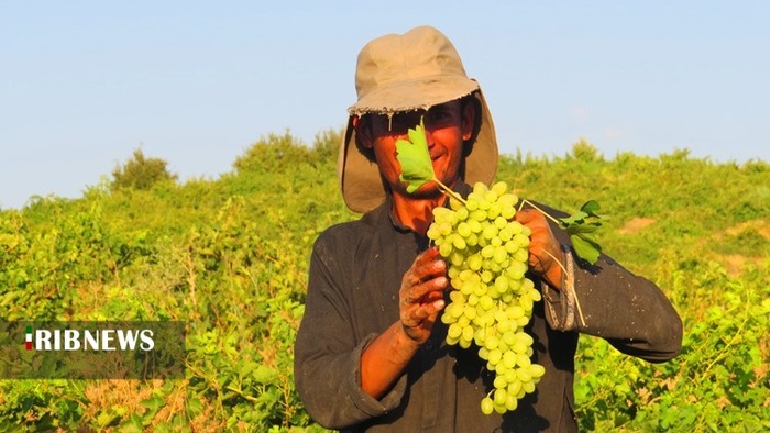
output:
<svg viewBox="0 0 770 433"><path fill-rule="evenodd" d="M437 178L465 196L495 176L488 108L452 44L428 26L369 43L355 80L338 171L345 203L364 215L316 242L295 345L296 386L314 420L343 431L576 431L579 333L650 362L679 353L682 324L658 287L609 257L575 259L563 231L522 210L528 277L543 295L527 332L546 374L515 411L482 414L494 375L475 347L447 345L439 320L451 287L426 231L447 199L433 181L406 191L395 143L422 119Z"/></svg>

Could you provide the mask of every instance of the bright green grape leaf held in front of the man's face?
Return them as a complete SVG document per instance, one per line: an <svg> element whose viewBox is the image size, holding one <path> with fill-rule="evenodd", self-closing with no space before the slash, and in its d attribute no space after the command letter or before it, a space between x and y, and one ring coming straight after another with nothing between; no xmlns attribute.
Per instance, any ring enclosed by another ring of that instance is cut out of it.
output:
<svg viewBox="0 0 770 433"><path fill-rule="evenodd" d="M422 184L433 180L433 164L428 152L428 142L425 136L425 125L420 124L407 132L409 140L396 141L396 159L402 165L399 179L406 182L406 191L415 192Z"/></svg>

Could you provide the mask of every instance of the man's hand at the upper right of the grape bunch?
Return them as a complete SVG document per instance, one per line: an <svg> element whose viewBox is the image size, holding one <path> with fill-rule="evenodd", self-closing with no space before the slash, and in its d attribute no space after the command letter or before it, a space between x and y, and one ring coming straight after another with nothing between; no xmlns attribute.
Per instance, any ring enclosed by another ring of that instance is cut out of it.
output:
<svg viewBox="0 0 770 433"><path fill-rule="evenodd" d="M532 232L529 242L529 268L542 275L552 287L561 289L562 269L557 263L557 259L562 257L561 248L546 216L535 209L521 209L516 212L516 221Z"/></svg>

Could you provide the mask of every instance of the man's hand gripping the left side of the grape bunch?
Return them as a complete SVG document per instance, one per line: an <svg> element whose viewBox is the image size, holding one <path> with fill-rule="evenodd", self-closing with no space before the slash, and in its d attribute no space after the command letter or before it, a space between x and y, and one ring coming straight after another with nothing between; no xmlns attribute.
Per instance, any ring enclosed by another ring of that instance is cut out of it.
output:
<svg viewBox="0 0 770 433"><path fill-rule="evenodd" d="M447 263L436 247L417 256L404 274L398 292L402 329L415 343L422 344L430 336L436 318L444 307L447 287Z"/></svg>

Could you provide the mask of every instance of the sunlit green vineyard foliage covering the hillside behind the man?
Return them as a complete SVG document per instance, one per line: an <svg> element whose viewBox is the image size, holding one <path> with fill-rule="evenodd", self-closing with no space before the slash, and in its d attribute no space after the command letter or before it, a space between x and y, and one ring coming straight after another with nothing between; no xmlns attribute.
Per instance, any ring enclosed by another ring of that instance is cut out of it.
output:
<svg viewBox="0 0 770 433"><path fill-rule="evenodd" d="M271 135L218 179L145 187L142 175L0 212L3 320L188 323L185 380L0 380L0 431L322 431L294 390L293 342L312 242L358 218L338 191L340 142ZM770 429L768 163L605 159L580 142L561 157L504 157L498 179L569 212L602 203L603 249L684 320L681 356L660 365L581 338L584 431Z"/></svg>

